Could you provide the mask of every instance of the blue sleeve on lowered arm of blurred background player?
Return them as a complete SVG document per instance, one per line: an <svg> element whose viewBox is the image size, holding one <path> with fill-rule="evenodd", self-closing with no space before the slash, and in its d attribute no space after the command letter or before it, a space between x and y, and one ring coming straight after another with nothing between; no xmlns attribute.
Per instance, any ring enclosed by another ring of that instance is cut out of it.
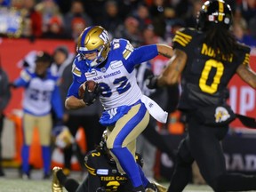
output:
<svg viewBox="0 0 256 192"><path fill-rule="evenodd" d="M52 92L52 108L59 119L62 119L63 116L63 105L60 97L60 90L57 85Z"/></svg>

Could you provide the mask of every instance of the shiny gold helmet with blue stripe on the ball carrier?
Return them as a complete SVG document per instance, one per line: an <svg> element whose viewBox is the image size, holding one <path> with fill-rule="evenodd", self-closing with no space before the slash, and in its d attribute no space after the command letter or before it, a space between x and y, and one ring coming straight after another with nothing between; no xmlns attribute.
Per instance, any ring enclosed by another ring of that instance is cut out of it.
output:
<svg viewBox="0 0 256 192"><path fill-rule="evenodd" d="M108 58L110 50L110 41L107 30L100 26L85 28L77 39L76 52L85 60L89 68L99 66ZM97 57L93 60L87 60L85 54L96 52Z"/></svg>

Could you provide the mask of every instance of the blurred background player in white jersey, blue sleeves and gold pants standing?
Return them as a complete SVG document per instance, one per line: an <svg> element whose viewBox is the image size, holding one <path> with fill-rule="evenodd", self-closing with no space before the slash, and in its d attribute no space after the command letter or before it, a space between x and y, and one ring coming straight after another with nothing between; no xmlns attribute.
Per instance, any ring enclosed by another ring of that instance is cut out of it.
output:
<svg viewBox="0 0 256 192"><path fill-rule="evenodd" d="M57 86L58 76L52 76L52 56L47 52L36 52L36 68L24 68L12 87L24 87L23 119L24 145L22 148L22 177L29 178L29 147L34 128L39 131L44 160L44 179L51 173L51 133L53 109L57 118L62 119L63 107Z"/></svg>

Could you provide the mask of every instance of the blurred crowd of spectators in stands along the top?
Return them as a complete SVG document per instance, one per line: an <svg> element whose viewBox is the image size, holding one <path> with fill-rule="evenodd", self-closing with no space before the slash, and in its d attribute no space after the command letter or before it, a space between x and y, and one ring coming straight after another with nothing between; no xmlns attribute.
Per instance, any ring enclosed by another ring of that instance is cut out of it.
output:
<svg viewBox="0 0 256 192"><path fill-rule="evenodd" d="M234 12L237 38L255 43L256 0L227 0ZM1 7L21 12L20 37L74 39L91 25L106 28L134 46L170 43L180 27L195 27L204 0L0 0ZM254 41L254 42L253 42Z"/></svg>

